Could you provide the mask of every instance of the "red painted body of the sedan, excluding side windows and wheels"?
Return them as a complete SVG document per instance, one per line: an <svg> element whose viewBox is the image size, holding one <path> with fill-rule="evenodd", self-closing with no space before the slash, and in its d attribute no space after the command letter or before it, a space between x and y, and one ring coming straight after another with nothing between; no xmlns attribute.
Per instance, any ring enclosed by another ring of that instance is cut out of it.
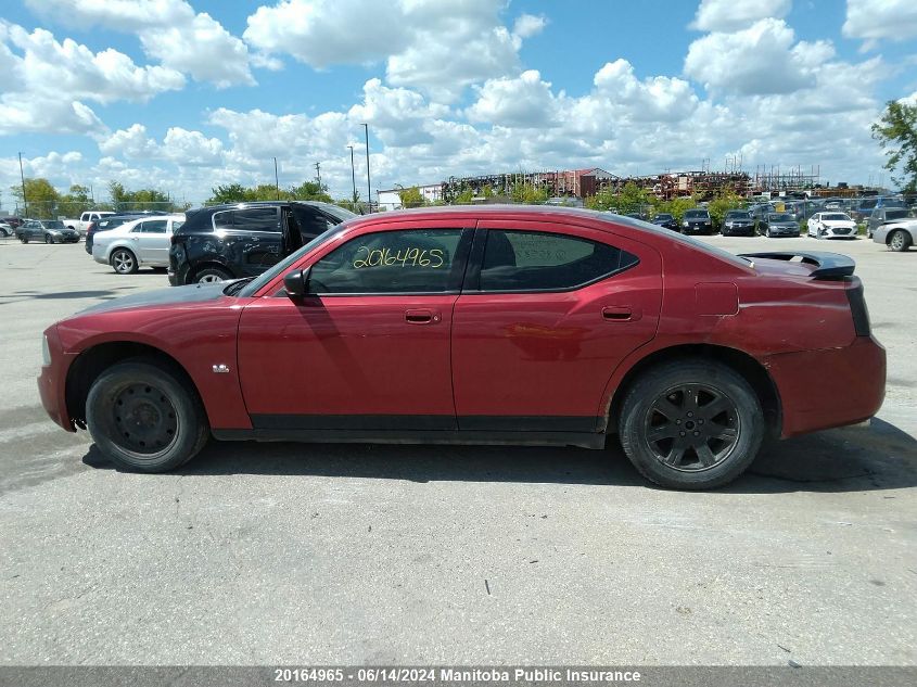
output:
<svg viewBox="0 0 917 687"><path fill-rule="evenodd" d="M612 244L639 263L582 289L549 293L298 302L283 293L284 273L355 237L436 227L564 233ZM195 300L190 296L205 292L174 288L169 293L184 300L113 301L52 326L46 331L52 361L39 378L49 415L68 431L81 423L75 402L68 405L67 385L76 384L68 371L79 356L114 342L150 346L180 365L218 435L346 431L355 418L380 432L600 435L628 372L649 356L698 345L714 356L741 352L766 371L782 436L862 421L882 402L884 349L855 331L846 294L858 285L855 277L822 281L801 263L740 263L671 231L583 211L408 211L337 229L251 296ZM219 365L229 371L215 373Z"/></svg>

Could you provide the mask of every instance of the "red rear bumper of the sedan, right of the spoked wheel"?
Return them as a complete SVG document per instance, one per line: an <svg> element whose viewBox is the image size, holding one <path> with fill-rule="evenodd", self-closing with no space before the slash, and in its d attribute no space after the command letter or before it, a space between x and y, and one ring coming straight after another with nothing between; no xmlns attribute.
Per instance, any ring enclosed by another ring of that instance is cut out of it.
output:
<svg viewBox="0 0 917 687"><path fill-rule="evenodd" d="M782 408L782 437L856 424L886 396L886 349L870 336L843 348L804 351L764 360Z"/></svg>

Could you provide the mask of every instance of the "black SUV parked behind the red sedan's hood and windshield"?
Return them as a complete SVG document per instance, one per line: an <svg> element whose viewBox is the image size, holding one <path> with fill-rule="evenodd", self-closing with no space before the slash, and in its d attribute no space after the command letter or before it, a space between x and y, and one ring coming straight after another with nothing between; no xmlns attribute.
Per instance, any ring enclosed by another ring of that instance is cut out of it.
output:
<svg viewBox="0 0 917 687"><path fill-rule="evenodd" d="M188 211L173 234L169 283L173 287L260 275L322 233L356 217L315 201L231 203Z"/></svg>

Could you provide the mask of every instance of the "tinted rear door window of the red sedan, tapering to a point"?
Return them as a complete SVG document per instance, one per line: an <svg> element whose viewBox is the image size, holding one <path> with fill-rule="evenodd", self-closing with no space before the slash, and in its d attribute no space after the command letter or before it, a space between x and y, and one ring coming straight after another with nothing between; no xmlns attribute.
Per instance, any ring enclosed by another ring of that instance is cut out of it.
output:
<svg viewBox="0 0 917 687"><path fill-rule="evenodd" d="M530 231L491 229L481 291L544 291L580 287L637 264L606 243Z"/></svg>

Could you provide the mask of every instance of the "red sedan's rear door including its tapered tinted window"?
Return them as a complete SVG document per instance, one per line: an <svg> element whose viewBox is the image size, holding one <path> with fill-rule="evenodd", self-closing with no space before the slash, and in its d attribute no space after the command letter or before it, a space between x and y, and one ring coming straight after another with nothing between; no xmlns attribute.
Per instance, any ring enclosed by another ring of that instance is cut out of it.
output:
<svg viewBox="0 0 917 687"><path fill-rule="evenodd" d="M594 432L620 361L655 334L659 254L596 229L482 220L453 321L461 430Z"/></svg>

